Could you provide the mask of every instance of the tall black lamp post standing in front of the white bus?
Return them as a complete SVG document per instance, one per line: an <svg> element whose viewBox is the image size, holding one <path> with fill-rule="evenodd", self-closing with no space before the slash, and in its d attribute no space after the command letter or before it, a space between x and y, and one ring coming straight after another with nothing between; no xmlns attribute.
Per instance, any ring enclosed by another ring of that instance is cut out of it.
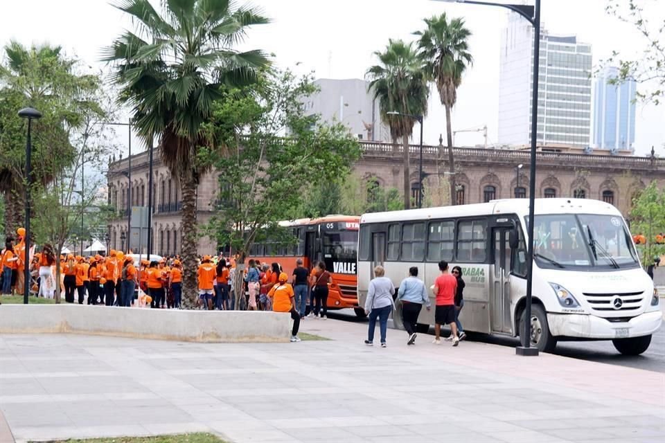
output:
<svg viewBox="0 0 665 443"><path fill-rule="evenodd" d="M529 226L527 226L529 243L526 251L526 307L524 308L524 331L520 333L522 346L518 346L517 355L538 355L538 348L531 347L531 289L533 276L533 210L535 206L535 147L538 135L538 72L540 70L540 0L535 5L511 5L475 0L434 0L447 3L469 3L472 5L499 6L521 15L533 26L533 86L531 102L531 170L529 171Z"/></svg>

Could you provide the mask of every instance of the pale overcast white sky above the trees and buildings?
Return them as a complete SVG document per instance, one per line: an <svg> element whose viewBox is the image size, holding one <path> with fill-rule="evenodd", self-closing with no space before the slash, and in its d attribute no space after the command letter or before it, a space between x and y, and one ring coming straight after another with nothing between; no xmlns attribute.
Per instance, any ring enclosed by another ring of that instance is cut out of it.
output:
<svg viewBox="0 0 665 443"><path fill-rule="evenodd" d="M592 44L594 65L613 50L639 55L646 46L643 37L605 13L608 1L542 0L542 26L551 34L575 34L579 42ZM664 15L663 0L645 1L655 15ZM423 28L423 18L441 12L463 17L472 31L470 51L475 62L458 90L453 129L487 125L488 142L497 143L499 46L507 22L503 8L431 0L254 0L249 4L272 23L251 29L241 48L263 49L274 54L278 66L297 73L314 71L317 78L363 78L376 62L373 52L382 50L389 38L414 39L412 33ZM86 69L106 68L99 62L100 48L125 28L132 28L131 22L107 0L0 0L1 45L10 39L58 44ZM426 144L438 144L439 134L445 132L445 111L436 98L435 94L430 100L424 123ZM121 118L126 120L127 113L121 113ZM637 105L636 154L648 154L653 145L657 154L665 156L664 123L665 105ZM126 131L116 129L121 149L126 145ZM480 145L483 136L481 132L457 134L455 142Z"/></svg>

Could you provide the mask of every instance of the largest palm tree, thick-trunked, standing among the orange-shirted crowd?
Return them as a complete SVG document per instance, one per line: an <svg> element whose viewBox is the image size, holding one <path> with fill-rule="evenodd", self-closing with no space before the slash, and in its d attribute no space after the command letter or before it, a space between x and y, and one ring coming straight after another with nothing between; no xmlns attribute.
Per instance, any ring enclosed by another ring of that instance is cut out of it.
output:
<svg viewBox="0 0 665 443"><path fill-rule="evenodd" d="M195 305L196 188L208 168L197 156L211 143L202 125L213 101L224 91L250 84L269 66L262 51L239 52L234 46L249 26L266 24L258 11L232 0L162 1L162 14L149 0L123 0L116 8L136 24L104 53L116 66L114 81L121 102L133 107L132 120L146 143L159 139L161 158L182 188L184 302Z"/></svg>

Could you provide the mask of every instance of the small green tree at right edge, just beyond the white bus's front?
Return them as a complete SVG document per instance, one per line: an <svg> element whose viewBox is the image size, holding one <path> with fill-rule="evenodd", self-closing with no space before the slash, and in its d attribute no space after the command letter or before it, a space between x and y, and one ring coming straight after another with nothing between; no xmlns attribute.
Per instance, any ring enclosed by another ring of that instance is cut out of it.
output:
<svg viewBox="0 0 665 443"><path fill-rule="evenodd" d="M655 241L656 235L665 233L665 190L659 189L656 181L652 181L632 202L630 230L633 235L646 237L646 244L637 246L644 266L653 257L665 254L665 244L657 244Z"/></svg>

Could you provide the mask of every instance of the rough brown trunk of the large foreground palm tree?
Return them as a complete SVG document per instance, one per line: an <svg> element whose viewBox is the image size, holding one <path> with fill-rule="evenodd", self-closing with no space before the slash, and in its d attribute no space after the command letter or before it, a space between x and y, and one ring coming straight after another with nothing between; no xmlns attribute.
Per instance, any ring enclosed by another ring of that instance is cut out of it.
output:
<svg viewBox="0 0 665 443"><path fill-rule="evenodd" d="M197 229L196 229L196 179L191 172L180 177L182 186L182 302L186 309L196 307L197 284Z"/></svg>

